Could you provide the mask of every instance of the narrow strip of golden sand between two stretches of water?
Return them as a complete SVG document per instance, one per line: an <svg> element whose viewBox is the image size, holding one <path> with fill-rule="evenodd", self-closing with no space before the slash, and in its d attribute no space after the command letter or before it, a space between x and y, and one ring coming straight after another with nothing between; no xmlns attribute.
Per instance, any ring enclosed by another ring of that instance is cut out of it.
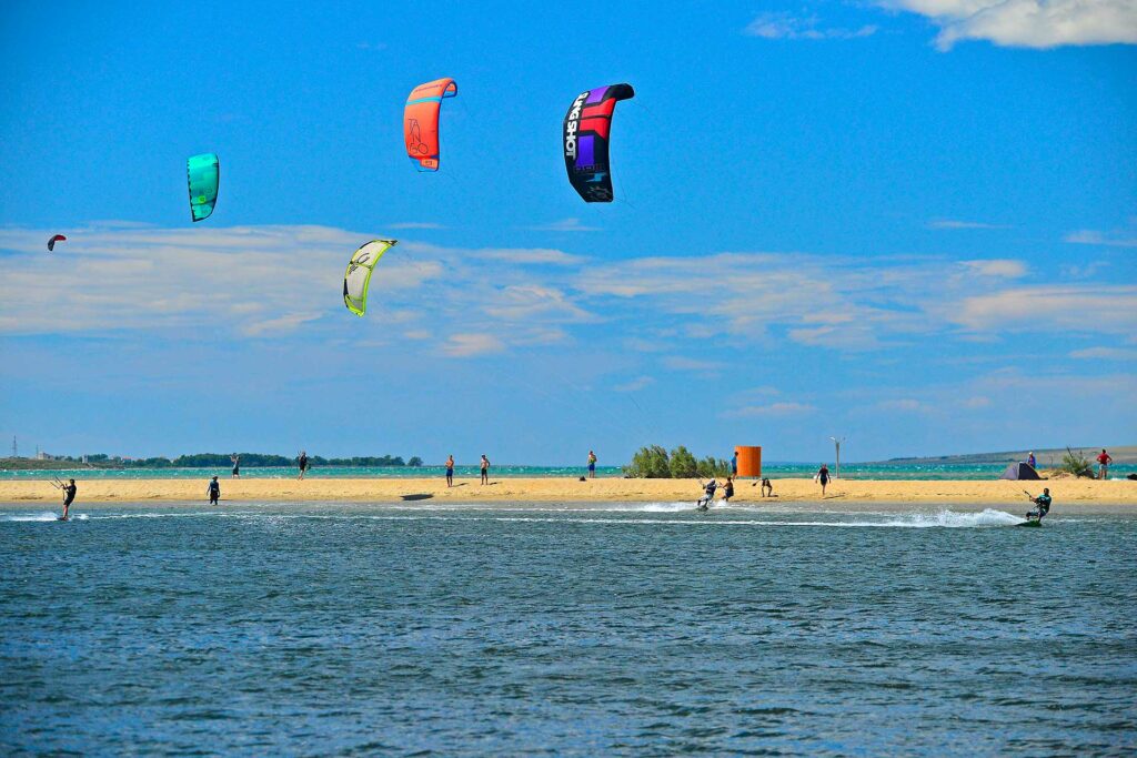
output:
<svg viewBox="0 0 1137 758"><path fill-rule="evenodd" d="M78 480L80 506L108 502L201 501L207 480ZM476 478L456 480L447 488L441 478L246 478L221 480L222 502L241 501L348 501L404 502L591 502L591 501L694 501L699 497L695 480L596 478L498 478L488 485ZM1056 508L1077 505L1137 505L1137 482L1053 480L1009 481L854 481L829 485L825 502L889 503L1023 503L1023 490L1032 493L1051 488ZM821 488L808 478L774 481L778 495L766 502L818 502ZM0 482L0 502L58 503L59 491L47 480ZM760 489L750 481L736 488L735 502L762 502Z"/></svg>

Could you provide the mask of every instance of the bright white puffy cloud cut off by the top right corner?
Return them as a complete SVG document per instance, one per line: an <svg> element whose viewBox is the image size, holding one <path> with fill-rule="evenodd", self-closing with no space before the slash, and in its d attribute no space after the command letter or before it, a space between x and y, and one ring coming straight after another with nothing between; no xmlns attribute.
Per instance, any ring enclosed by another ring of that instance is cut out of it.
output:
<svg viewBox="0 0 1137 758"><path fill-rule="evenodd" d="M936 45L964 40L1012 48L1137 43L1134 0L883 0L927 16L939 27Z"/></svg>

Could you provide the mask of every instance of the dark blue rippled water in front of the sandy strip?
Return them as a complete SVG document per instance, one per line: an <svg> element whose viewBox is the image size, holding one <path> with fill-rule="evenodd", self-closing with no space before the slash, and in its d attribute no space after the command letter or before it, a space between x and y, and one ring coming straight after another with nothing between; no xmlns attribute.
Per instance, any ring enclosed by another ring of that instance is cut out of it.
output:
<svg viewBox="0 0 1137 758"><path fill-rule="evenodd" d="M1137 518L0 510L0 752L1122 755Z"/></svg>

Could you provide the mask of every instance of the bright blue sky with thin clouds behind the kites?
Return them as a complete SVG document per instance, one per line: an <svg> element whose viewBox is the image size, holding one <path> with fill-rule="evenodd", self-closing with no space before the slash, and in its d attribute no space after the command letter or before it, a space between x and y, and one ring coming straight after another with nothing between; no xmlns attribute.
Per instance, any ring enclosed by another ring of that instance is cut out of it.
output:
<svg viewBox="0 0 1137 758"><path fill-rule="evenodd" d="M0 15L0 434L25 450L1137 439L1124 0ZM423 175L402 102L440 76ZM617 199L586 205L561 122L616 82ZM221 198L191 224L205 151ZM343 267L374 236L400 244L357 319Z"/></svg>

